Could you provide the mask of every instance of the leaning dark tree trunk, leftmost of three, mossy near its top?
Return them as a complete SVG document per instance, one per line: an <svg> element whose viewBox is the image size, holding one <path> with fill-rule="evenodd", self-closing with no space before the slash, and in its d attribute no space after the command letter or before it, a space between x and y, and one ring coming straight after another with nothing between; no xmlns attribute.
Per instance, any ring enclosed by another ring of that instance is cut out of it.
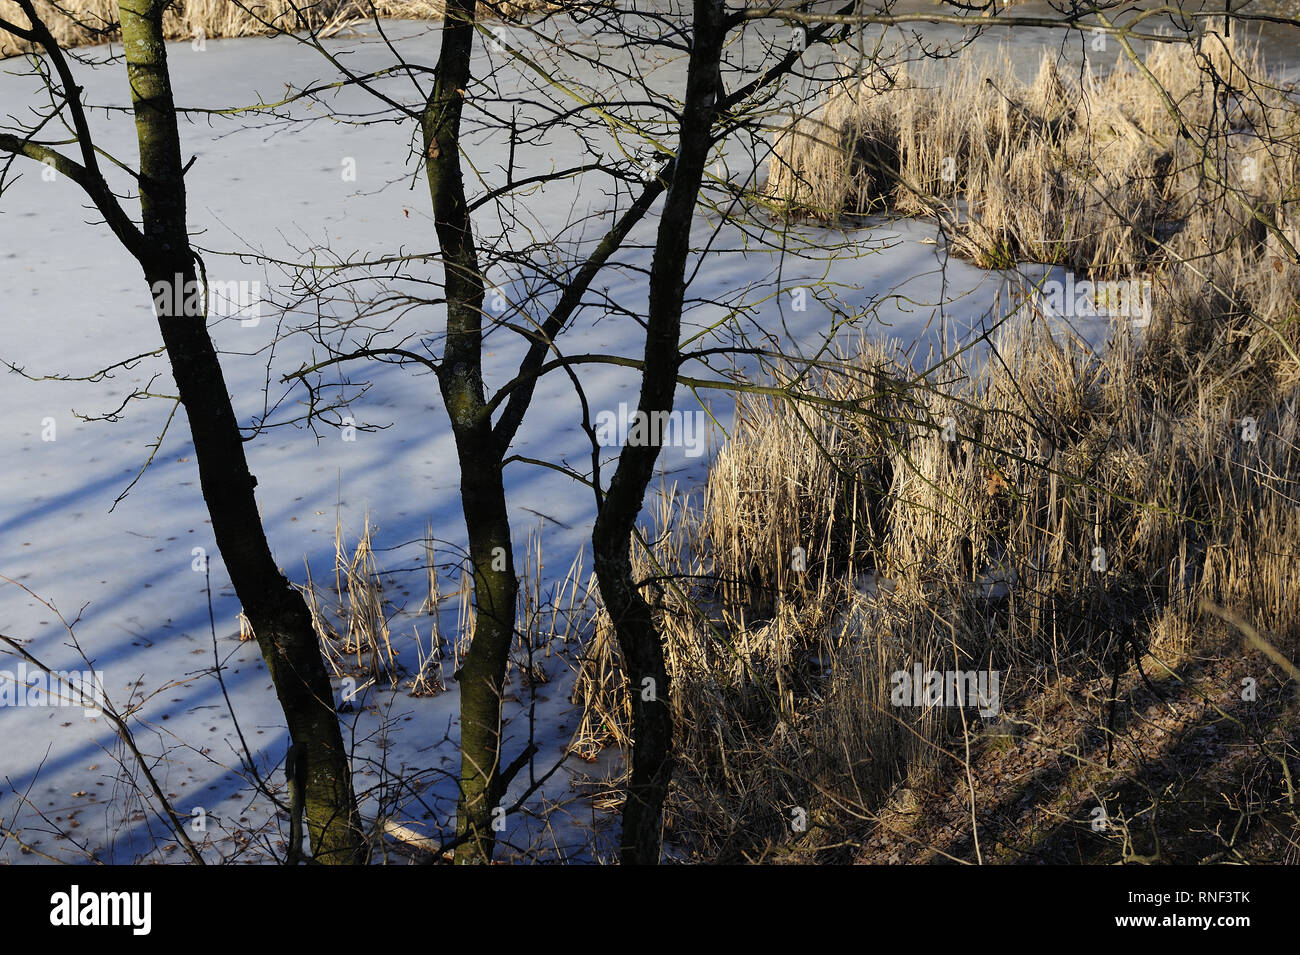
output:
<svg viewBox="0 0 1300 955"><path fill-rule="evenodd" d="M318 863L363 863L352 777L307 604L280 572L257 513L256 478L196 288L181 139L162 40L165 0L121 0L122 43L140 149L142 266L194 437L203 498L235 594L252 624L294 743L306 759L306 813ZM161 295L157 295L161 292ZM181 309L173 308L183 304ZM178 313L177 313L178 312Z"/></svg>

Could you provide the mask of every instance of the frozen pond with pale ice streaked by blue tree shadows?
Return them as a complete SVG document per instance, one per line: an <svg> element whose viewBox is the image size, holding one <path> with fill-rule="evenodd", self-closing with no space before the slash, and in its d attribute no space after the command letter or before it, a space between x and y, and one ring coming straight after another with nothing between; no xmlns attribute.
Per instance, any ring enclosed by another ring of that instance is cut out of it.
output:
<svg viewBox="0 0 1300 955"><path fill-rule="evenodd" d="M592 48L582 26L563 29L569 52ZM387 34L412 60L432 65L437 57L436 26L391 23ZM771 62L771 44L784 43L786 34L786 27L753 32L729 55L734 68L754 70ZM933 29L927 36L954 39L957 31ZM516 47L534 42L511 31L499 39ZM1013 43L1017 61L1036 66L1041 44L1032 34L1018 35ZM328 47L358 74L393 62L372 30L339 35ZM489 64L500 66L493 79L499 94L490 107L494 114L500 118L503 110L516 109L520 123L536 118L540 91L547 88L545 75L506 62L489 38L480 43L477 57L480 75L489 73ZM348 403L341 413L351 416L360 430L303 427L298 418L306 395L282 385L281 377L318 357L321 344L308 334L281 333L316 318L313 307L295 299L292 268L286 265L313 255L317 261L333 255L348 262L408 257L396 270L400 274L384 281L370 275L352 291L360 300L380 288L434 296L424 279L441 281L441 269L420 259L436 243L428 192L412 157L415 130L408 122L380 122L376 100L355 88L328 96L328 110L299 104L274 113L204 112L278 100L286 83L302 87L337 78L318 52L289 39L209 40L202 51L178 43L170 49L170 62L178 103L198 110L188 113L182 127L185 155L194 157L187 182L195 242L204 249L211 278L259 290L256 313L231 309L213 324L213 335L242 424L265 425L250 442L248 455L272 547L292 581L306 579L304 561L313 576L325 578L334 560L335 521L354 541L369 515L378 563L390 573L386 596L396 612L394 647L413 669L428 652L430 633L429 621L419 615L426 595L420 541L432 528L445 594L459 586L464 554L459 474L437 386L416 369L351 368L351 386L341 392ZM0 75L4 112L22 117L29 107L39 108L40 84L22 73L23 62L12 60L5 66L8 74ZM680 83L680 57L645 66L660 88ZM826 66L810 57L810 73ZM122 68L79 70L86 99L96 107L98 142L131 161L135 140L121 109L126 105ZM595 75L582 77L578 66L573 70L571 75L580 79ZM416 101L413 86L406 77L381 83L408 104ZM614 86L608 92L611 100L636 96L630 87ZM534 100L532 105L519 103L525 95ZM559 129L511 151L495 123L472 110L467 116L465 149L478 175L469 185L471 197L503 182L508 164L523 177L589 162L593 151L607 162L625 162L624 153L636 146L632 139L619 146L598 126L586 138L572 127ZM745 179L760 162L740 143L719 156L714 169L720 178ZM481 244L507 248L526 244L524 235L543 236L555 255L573 260L608 227L610 210L627 204L625 195L581 182L563 179L534 191L520 200L517 218L488 218ZM125 177L117 185L125 191ZM715 201L723 196L722 190L711 194ZM932 225L883 222L853 233L802 226L785 248L771 244L774 225L751 217L744 227L719 227L716 208L697 216L696 247L708 251L688 268L693 283L685 327L696 347L763 342L774 335L784 350L807 353L827 334L845 340L862 334L894 340L900 355L920 366L941 351L941 339L968 340L1000 300L1002 277L945 256ZM566 333L569 353L640 355L641 327L634 316L645 311L653 236L651 214L594 283L588 305ZM529 291L530 268L523 261L489 277L500 294L502 311L526 316L545 304L550 292ZM814 286L820 286L819 294L798 295ZM105 691L120 707L129 699L139 703L142 745L151 754L166 754L156 769L164 791L182 815L202 809L207 838L229 852L234 843L228 837L240 828L256 829L268 807L239 776L237 734L209 672L213 634L204 576L194 570L195 548L212 555L217 652L263 774L270 776L282 759L286 734L256 646L237 638L238 605L216 555L182 421L166 431L152 465L114 507L150 459L172 409L165 398L170 373L153 355L159 340L147 290L134 261L96 223L77 188L29 169L0 197L0 296L8 333L0 359L27 376L84 378L142 356L107 379L0 378L8 421L0 429L0 457L8 461L0 474L0 574L53 603L68 620L77 618L75 634L104 674ZM325 314L347 314L352 304L338 296L326 303ZM417 340L439 326L438 308L394 311L374 325L384 327L386 340ZM520 355L517 337L489 339L489 386L508 381ZM753 363L738 366L750 374L759 370ZM688 373L716 377L722 370ZM593 411L636 400L637 381L627 369L585 365L578 374ZM164 398L131 401L117 414L133 390ZM725 392L682 390L679 405L696 411L701 400L710 401L723 425L729 422ZM110 413L113 420L82 417ZM577 421L572 383L563 376L545 379L514 453L584 466L589 446ZM377 430L365 430L368 425ZM701 481L707 455L690 451L664 452L666 482L693 486ZM537 531L549 563L542 577L558 582L586 543L590 494L554 470L524 461L510 465L507 482L520 567L525 539ZM589 560L586 568L589 573ZM456 607L447 602L442 631L454 634L455 629ZM29 650L60 669L82 667L55 613L13 585L0 587L0 633L30 638ZM546 699L537 709L543 743L538 772L558 759L576 724L567 702L571 676L558 660L549 665L551 682L542 687ZM16 670L17 660L0 659L0 669ZM367 812L373 813L380 799L391 799L400 807L399 819L446 825L455 793L446 773L459 767L455 683L448 687L430 698L370 691L365 706L346 717L344 737L367 767L358 777ZM507 759L521 748L528 732L529 691L517 677L512 693L520 704L510 709ZM6 828L27 829L40 851L69 860L94 852L105 861L131 861L151 851L155 837L159 845L166 843L159 820L129 798L130 786L114 764L114 754L122 754L103 719L73 708L3 707L0 729L5 778L0 820ZM391 791L395 772L419 776L419 798ZM546 794L563 798L568 786L568 777L558 774ZM572 828L560 826L558 835L547 835L547 851L590 856L590 847L582 845L590 819L581 815L575 812ZM51 834L70 821L84 846ZM538 841L536 820L512 819L511 825L511 841ZM174 850L161 855L179 856ZM38 859L4 838L0 858Z"/></svg>

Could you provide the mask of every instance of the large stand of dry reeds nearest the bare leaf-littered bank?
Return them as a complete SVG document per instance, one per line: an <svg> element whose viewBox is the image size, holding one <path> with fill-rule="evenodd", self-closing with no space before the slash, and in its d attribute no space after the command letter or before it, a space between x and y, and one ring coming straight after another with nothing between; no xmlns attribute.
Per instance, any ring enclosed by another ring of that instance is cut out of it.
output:
<svg viewBox="0 0 1300 955"><path fill-rule="evenodd" d="M754 859L867 824L979 720L892 706L892 674L918 664L998 670L1014 706L1193 650L1202 600L1292 652L1296 270L1240 249L1170 270L1145 337L1121 322L1098 350L1037 301L1027 288L983 359L922 378L864 347L790 379L832 412L741 398L703 494L663 492L634 554L672 678L676 845ZM588 755L629 737L603 626L577 694Z"/></svg>

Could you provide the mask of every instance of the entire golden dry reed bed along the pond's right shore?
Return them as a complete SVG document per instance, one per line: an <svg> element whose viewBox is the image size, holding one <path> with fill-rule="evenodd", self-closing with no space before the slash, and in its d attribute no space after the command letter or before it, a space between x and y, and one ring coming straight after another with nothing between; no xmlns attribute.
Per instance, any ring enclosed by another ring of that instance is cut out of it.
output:
<svg viewBox="0 0 1300 955"><path fill-rule="evenodd" d="M1050 62L1032 84L1002 77L1010 97L979 73L954 75L945 96L857 87L783 133L779 155L803 172L774 160L768 185L803 212L968 203L950 222L976 260L1141 269L1150 324L1141 340L1118 326L1095 352L1024 288L985 359L918 382L863 344L840 370L801 379L854 411L738 401L702 495L666 490L653 544L634 544L641 577L659 581L645 592L673 680L679 850L836 858L828 847L870 828L889 794L950 769L941 747L979 717L892 707L898 669L996 669L1014 711L1062 677L1109 682L1143 657L1158 674L1149 655L1208 652L1205 634L1222 630L1201 602L1295 655L1296 108L1245 81L1234 81L1239 108L1204 97L1206 58L1223 77L1260 69L1249 51L1225 57L1160 48L1147 61L1208 144L1201 156L1134 71L1080 91ZM818 123L833 146L796 144ZM1266 127L1273 136L1249 131ZM945 194L948 155L965 172ZM872 156L896 157L904 185L881 188L862 169L835 181ZM577 696L624 746L625 691L606 634Z"/></svg>

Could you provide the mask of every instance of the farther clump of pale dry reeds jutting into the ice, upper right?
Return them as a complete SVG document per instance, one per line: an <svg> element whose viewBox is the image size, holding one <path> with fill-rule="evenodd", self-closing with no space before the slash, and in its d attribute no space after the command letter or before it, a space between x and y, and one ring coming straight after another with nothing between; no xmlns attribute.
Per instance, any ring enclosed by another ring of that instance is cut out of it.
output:
<svg viewBox="0 0 1300 955"><path fill-rule="evenodd" d="M936 217L988 268L1126 274L1206 244L1295 260L1300 126L1249 44L1212 27L1153 44L1145 71L1121 58L1082 79L1044 55L1030 83L1009 60L845 75L777 131L768 197L823 220Z"/></svg>

